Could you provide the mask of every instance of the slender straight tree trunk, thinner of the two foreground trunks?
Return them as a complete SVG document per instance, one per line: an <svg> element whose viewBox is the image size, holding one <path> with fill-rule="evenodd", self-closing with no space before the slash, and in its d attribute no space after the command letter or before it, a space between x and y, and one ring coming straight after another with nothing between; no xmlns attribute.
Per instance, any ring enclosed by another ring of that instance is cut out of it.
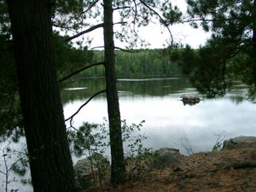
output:
<svg viewBox="0 0 256 192"><path fill-rule="evenodd" d="M124 149L122 141L119 97L116 87L113 44L112 0L104 0L105 76L108 100L108 120L111 148L111 182L120 183L125 177Z"/></svg>

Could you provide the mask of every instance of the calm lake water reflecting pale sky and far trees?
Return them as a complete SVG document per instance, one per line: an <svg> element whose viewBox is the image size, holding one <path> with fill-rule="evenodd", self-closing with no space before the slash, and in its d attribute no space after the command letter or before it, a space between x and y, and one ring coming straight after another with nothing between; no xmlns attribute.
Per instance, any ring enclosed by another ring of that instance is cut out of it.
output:
<svg viewBox="0 0 256 192"><path fill-rule="evenodd" d="M105 85L103 79L84 79L63 86L67 118ZM185 78L118 79L118 88L121 118L130 123L146 121L142 130L148 137L146 147L179 148L182 154L187 154L185 143L199 152L211 150L218 135L225 139L256 136L256 105L247 102L245 87L236 87L222 98L205 98L194 106L184 106L179 101L184 93L199 95ZM80 111L74 125L79 127L84 121L102 123L103 117L108 117L104 94Z"/></svg>

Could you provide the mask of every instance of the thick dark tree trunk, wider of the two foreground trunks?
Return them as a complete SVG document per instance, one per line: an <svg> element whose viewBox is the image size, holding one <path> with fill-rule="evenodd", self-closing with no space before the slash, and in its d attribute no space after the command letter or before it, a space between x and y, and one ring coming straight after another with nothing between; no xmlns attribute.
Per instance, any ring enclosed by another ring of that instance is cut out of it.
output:
<svg viewBox="0 0 256 192"><path fill-rule="evenodd" d="M20 104L35 192L74 191L73 165L55 76L52 0L8 0Z"/></svg>

